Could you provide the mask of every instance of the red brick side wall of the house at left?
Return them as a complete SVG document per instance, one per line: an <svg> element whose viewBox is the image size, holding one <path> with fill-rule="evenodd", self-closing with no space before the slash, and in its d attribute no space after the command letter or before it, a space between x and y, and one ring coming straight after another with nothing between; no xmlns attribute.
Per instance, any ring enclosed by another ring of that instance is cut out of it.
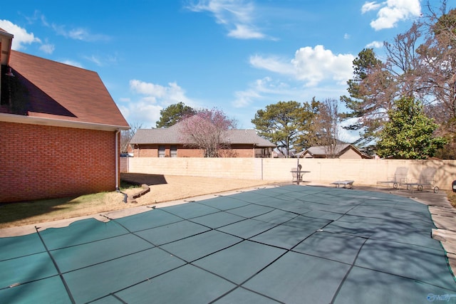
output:
<svg viewBox="0 0 456 304"><path fill-rule="evenodd" d="M115 189L115 132L0 122L0 202Z"/></svg>

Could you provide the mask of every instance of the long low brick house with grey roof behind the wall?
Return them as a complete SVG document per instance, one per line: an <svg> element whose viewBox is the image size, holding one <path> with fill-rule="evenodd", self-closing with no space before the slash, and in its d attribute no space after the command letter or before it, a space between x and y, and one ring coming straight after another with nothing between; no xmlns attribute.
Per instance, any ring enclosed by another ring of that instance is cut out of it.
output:
<svg viewBox="0 0 456 304"><path fill-rule="evenodd" d="M224 157L271 157L276 147L255 130L227 130L225 140L230 149ZM185 145L179 123L167 128L138 129L130 146L134 157L204 157L203 150Z"/></svg>

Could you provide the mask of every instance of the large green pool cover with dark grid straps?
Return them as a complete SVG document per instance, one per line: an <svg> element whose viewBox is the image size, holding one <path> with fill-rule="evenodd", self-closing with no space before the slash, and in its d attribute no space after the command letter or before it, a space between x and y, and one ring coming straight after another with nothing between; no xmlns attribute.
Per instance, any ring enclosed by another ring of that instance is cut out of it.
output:
<svg viewBox="0 0 456 304"><path fill-rule="evenodd" d="M426 205L289 185L0 239L0 303L443 303Z"/></svg>

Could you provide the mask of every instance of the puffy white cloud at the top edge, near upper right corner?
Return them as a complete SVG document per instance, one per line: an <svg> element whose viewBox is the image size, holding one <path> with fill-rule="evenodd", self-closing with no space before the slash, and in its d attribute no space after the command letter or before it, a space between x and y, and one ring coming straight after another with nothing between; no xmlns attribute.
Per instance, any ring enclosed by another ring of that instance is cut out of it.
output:
<svg viewBox="0 0 456 304"><path fill-rule="evenodd" d="M420 0L387 0L381 4L366 2L361 11L378 10L377 19L371 22L375 31L383 28L393 28L396 23L421 15Z"/></svg>

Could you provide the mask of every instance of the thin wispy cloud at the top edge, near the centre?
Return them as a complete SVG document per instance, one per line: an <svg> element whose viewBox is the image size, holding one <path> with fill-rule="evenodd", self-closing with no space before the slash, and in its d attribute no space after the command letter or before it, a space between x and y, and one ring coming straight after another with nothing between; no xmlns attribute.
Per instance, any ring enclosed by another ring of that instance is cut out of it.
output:
<svg viewBox="0 0 456 304"><path fill-rule="evenodd" d="M238 39L270 38L254 26L254 4L244 0L199 0L187 6L195 12L209 11L217 23L227 28L228 36Z"/></svg>

